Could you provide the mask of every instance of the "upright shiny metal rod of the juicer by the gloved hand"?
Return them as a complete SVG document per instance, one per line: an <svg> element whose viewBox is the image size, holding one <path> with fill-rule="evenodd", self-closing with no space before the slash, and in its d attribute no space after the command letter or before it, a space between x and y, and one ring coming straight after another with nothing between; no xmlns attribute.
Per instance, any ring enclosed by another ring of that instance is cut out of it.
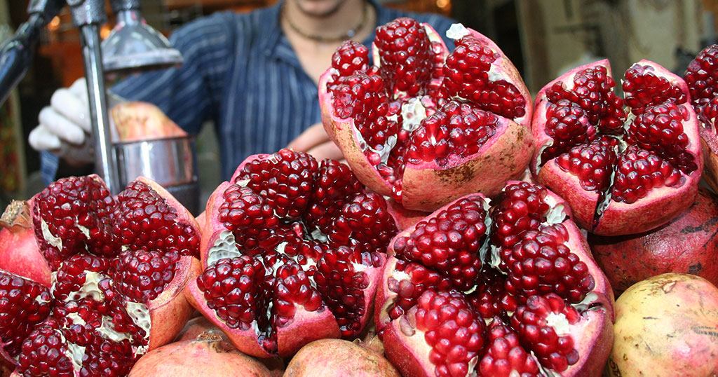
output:
<svg viewBox="0 0 718 377"><path fill-rule="evenodd" d="M80 26L83 44L85 78L88 83L90 100L90 119L93 126L93 144L95 146L95 171L105 180L113 195L120 192L117 174L117 162L112 153L110 122L107 113L105 77L102 69L100 48L100 27L98 24Z"/></svg>

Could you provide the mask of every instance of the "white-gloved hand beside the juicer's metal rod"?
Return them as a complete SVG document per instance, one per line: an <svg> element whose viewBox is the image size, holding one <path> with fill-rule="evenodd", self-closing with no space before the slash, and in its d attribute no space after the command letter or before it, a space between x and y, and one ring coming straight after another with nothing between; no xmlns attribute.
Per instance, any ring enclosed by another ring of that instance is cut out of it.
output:
<svg viewBox="0 0 718 377"><path fill-rule="evenodd" d="M108 93L107 108L123 101ZM37 151L47 150L75 164L93 162L92 122L85 78L75 80L70 88L55 90L50 106L39 112L29 143Z"/></svg>

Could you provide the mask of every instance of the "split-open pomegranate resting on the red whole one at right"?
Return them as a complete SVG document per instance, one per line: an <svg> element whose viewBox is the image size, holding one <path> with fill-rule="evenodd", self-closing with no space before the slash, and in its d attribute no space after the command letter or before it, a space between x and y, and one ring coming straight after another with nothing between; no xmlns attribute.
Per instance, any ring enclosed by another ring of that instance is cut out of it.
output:
<svg viewBox="0 0 718 377"><path fill-rule="evenodd" d="M698 121L682 78L641 60L613 92L608 60L582 65L536 96L536 182L602 236L650 231L693 203L703 169Z"/></svg>

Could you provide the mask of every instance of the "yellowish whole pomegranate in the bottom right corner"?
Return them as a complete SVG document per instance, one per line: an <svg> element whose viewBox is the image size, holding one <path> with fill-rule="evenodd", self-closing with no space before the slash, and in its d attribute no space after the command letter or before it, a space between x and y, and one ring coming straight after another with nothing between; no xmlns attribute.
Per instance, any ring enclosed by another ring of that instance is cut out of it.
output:
<svg viewBox="0 0 718 377"><path fill-rule="evenodd" d="M610 376L718 375L718 288L689 274L640 281L616 300Z"/></svg>

